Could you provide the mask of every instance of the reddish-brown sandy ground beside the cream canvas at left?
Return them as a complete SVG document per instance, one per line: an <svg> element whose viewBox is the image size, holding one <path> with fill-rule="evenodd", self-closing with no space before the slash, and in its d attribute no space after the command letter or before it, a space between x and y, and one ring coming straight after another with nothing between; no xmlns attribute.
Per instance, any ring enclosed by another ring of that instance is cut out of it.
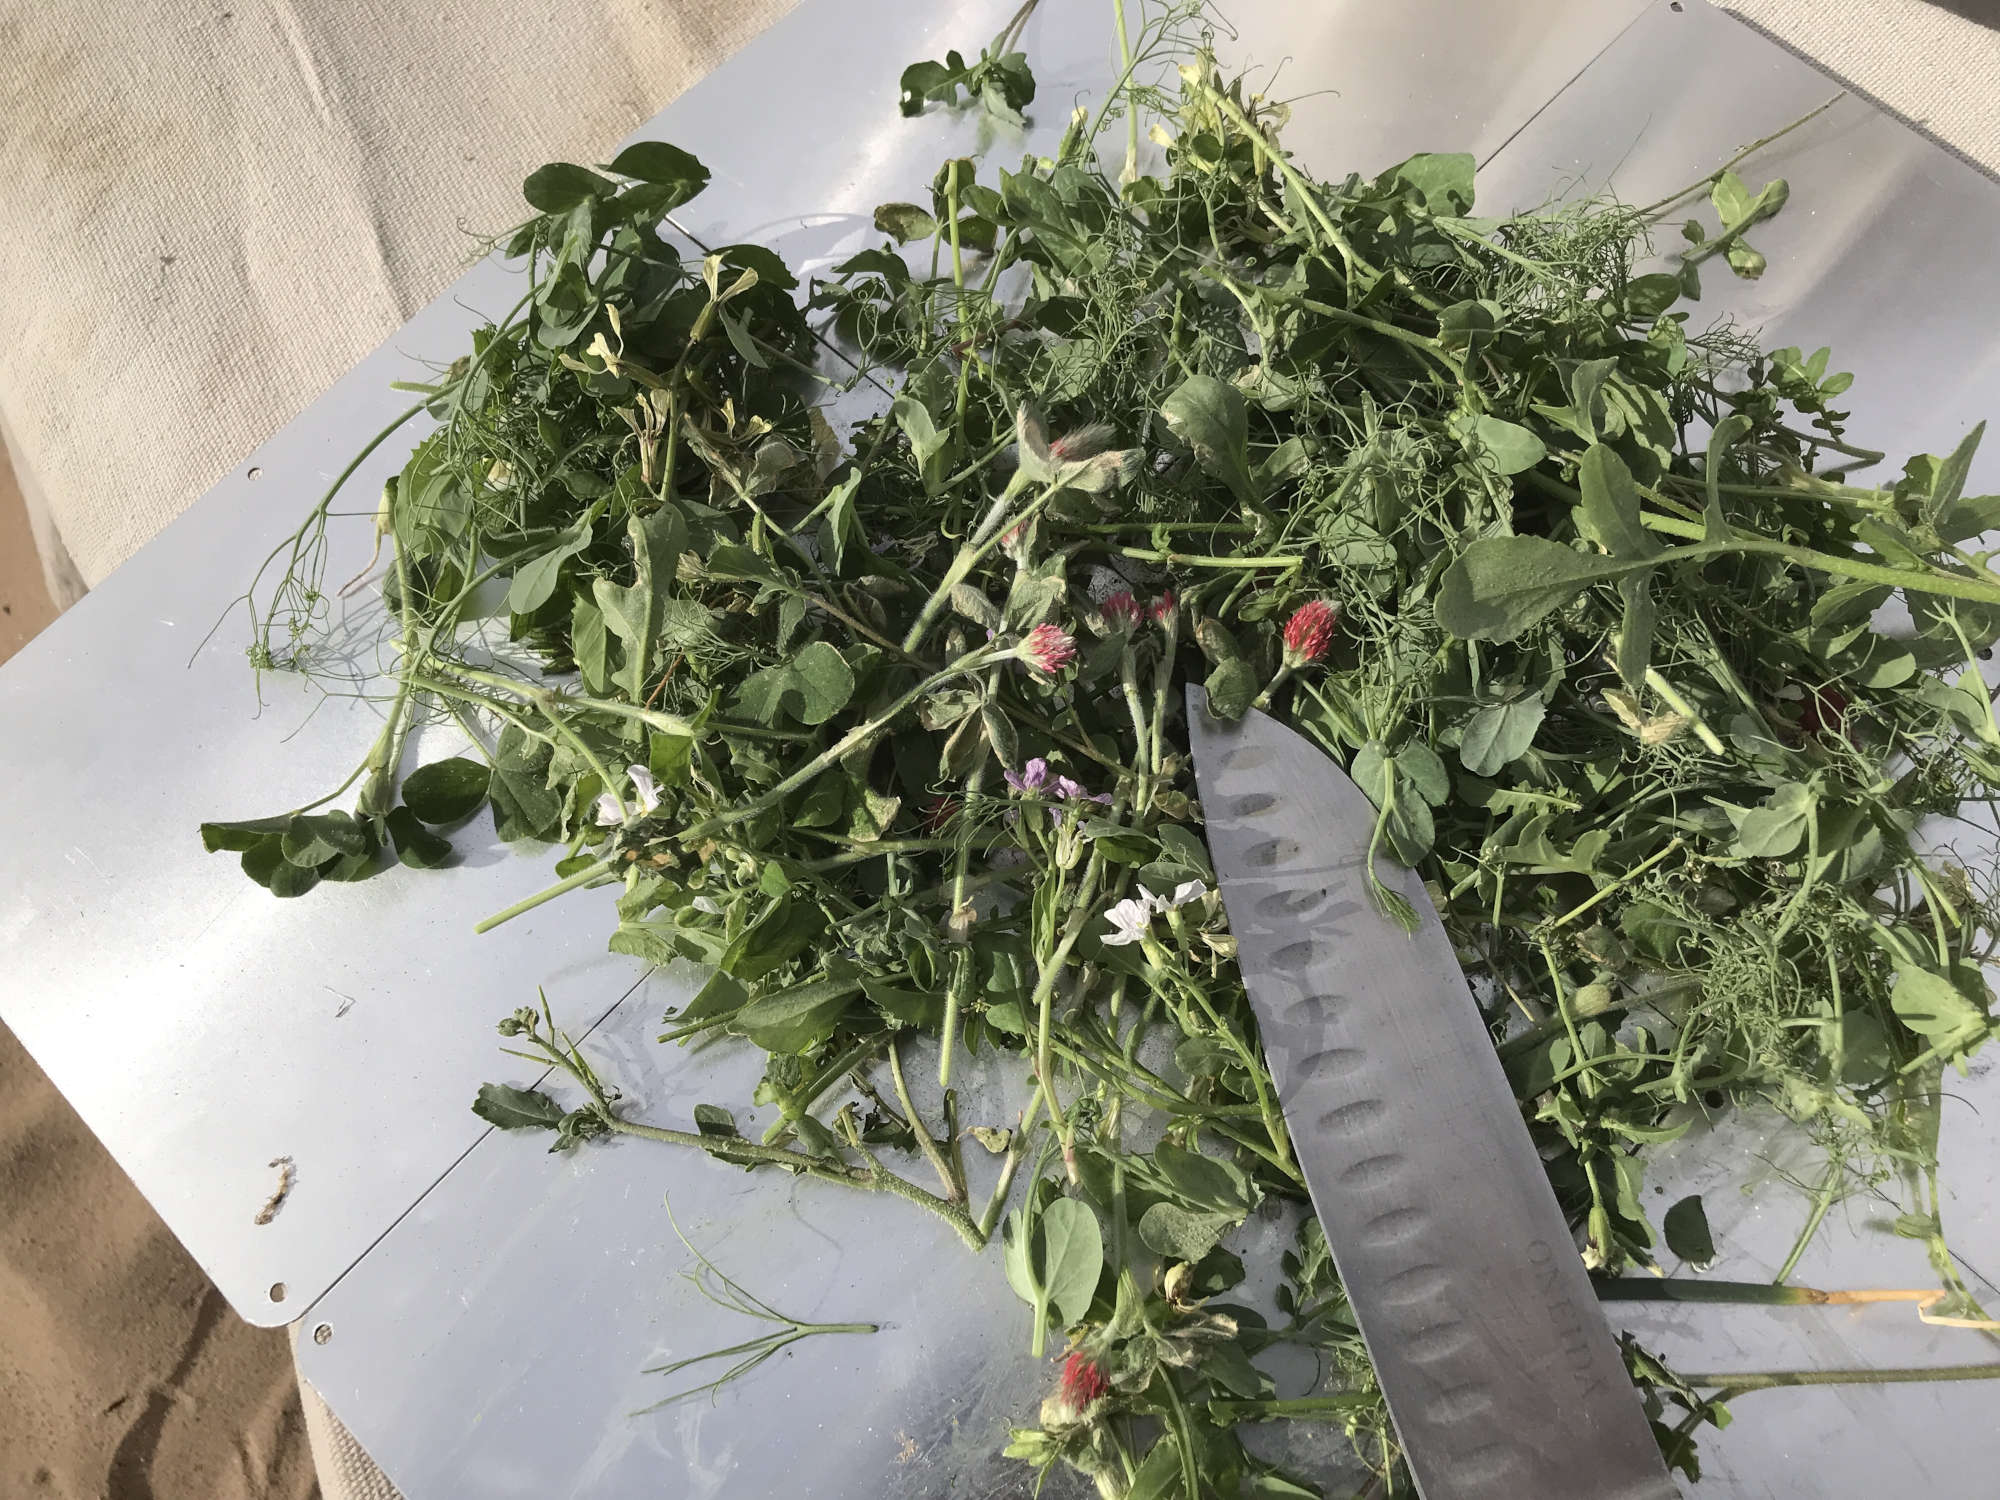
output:
<svg viewBox="0 0 2000 1500"><path fill-rule="evenodd" d="M0 454L0 660L50 618ZM230 1312L0 1026L0 1496L318 1492L284 1334Z"/></svg>

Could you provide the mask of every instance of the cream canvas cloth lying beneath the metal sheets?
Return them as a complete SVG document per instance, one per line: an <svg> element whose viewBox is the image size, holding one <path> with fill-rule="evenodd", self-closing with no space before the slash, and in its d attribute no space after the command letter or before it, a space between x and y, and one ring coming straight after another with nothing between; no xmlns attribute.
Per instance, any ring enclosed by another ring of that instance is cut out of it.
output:
<svg viewBox="0 0 2000 1500"><path fill-rule="evenodd" d="M1994 172L2000 0L1948 2L1728 8ZM0 0L0 438L56 600L448 286L528 170L604 156L790 4ZM312 1392L306 1422L328 1500L394 1494Z"/></svg>

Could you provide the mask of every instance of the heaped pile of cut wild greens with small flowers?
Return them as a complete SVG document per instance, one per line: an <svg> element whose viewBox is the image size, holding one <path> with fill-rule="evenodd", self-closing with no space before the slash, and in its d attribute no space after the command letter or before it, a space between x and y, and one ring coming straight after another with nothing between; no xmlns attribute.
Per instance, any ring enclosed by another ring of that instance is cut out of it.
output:
<svg viewBox="0 0 2000 1500"><path fill-rule="evenodd" d="M640 1122L536 1008L500 1030L574 1092L488 1086L480 1114L1002 1238L1034 1350L1068 1348L1010 1446L1038 1470L1316 1494L1234 1428L1320 1418L1406 1494L1310 1212L1276 1318L1216 1300L1232 1232L1304 1188L1192 796L1202 682L1322 744L1382 858L1424 872L1594 1270L1660 1250L1646 1148L1758 1102L1826 1148L1800 1248L1908 1174L1934 1310L1980 1318L1934 1172L2000 892L1914 842L2000 786L1978 434L1856 484L1882 456L1842 436L1824 350L1702 332L1698 266L1756 274L1782 182L1702 182L1716 224L1640 274L1674 202L1474 218L1468 156L1314 180L1192 24L1134 24L1054 156L944 162L808 288L766 248L690 248L672 210L708 174L674 146L528 178L530 292L422 388L436 430L382 496L400 660L354 808L208 846L296 896L448 864L480 808L562 844L560 884L494 920L616 884L614 950L712 966L664 1040L762 1048L778 1118ZM1016 114L1014 34L912 68L904 108ZM1176 48L1178 90L1138 82ZM252 592L260 668L314 668L330 500ZM404 774L438 720L474 752ZM946 1086L1034 1088L978 1132L990 1196L954 1096L942 1122L910 1102L916 1038ZM1698 1200L1664 1236L1712 1254ZM1276 1398L1276 1344L1320 1356L1316 1396ZM1628 1354L1694 1474L1716 1394Z"/></svg>

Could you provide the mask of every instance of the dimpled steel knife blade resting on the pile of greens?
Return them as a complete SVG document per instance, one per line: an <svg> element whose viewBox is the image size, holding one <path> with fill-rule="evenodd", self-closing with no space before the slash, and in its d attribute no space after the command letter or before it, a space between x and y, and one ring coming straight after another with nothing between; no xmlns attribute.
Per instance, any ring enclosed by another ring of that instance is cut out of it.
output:
<svg viewBox="0 0 2000 1500"><path fill-rule="evenodd" d="M1250 1006L1424 1500L1674 1500L1624 1360L1414 870L1308 740L1188 688L1208 850Z"/></svg>

